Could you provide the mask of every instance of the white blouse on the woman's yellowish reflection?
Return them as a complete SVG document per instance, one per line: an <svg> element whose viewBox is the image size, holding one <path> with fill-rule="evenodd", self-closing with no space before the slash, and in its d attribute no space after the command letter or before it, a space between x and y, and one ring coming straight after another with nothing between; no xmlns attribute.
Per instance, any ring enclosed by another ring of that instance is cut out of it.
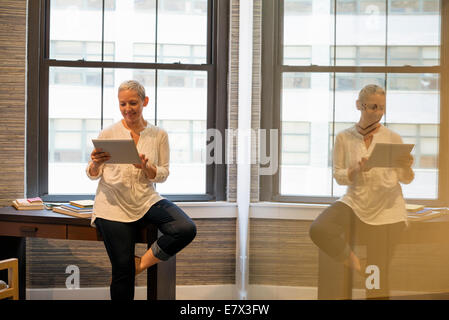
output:
<svg viewBox="0 0 449 320"><path fill-rule="evenodd" d="M376 143L403 143L401 137L380 126L369 148L355 126L340 132L334 146L334 178L340 185L348 185L342 201L367 224L381 225L407 221L405 200L399 182L413 181L413 170L400 168L372 168L361 172L351 182L348 169L362 157L369 157Z"/></svg>

